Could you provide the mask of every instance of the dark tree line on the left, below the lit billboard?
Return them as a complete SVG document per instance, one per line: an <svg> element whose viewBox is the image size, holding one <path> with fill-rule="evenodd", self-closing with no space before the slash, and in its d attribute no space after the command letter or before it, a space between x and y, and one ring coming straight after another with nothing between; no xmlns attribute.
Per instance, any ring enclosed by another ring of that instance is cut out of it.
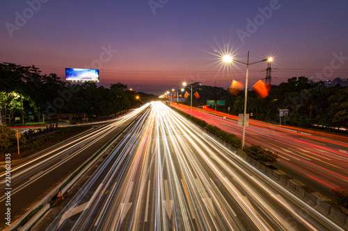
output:
<svg viewBox="0 0 348 231"><path fill-rule="evenodd" d="M143 104L155 96L127 89L122 83L67 83L56 74L42 75L35 66L0 64L0 108L3 123L15 117L42 121L42 114L73 113L107 117ZM138 96L138 97L137 97ZM23 108L23 110L22 110ZM22 119L21 119L22 121Z"/></svg>

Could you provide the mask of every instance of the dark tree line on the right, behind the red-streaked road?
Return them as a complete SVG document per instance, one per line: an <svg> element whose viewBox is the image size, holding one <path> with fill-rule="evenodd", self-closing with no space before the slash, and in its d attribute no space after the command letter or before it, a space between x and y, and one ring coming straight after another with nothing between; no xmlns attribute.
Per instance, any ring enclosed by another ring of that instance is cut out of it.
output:
<svg viewBox="0 0 348 231"><path fill-rule="evenodd" d="M190 91L191 89L187 89ZM238 115L244 110L244 91L229 94L222 87L199 86L199 99L193 97L193 105L205 105L207 100L225 100L225 106L217 109ZM190 96L187 98L190 104ZM253 119L278 123L279 109L289 109L287 123L310 127L319 124L329 127L348 128L348 87L325 87L323 82L311 82L304 76L293 77L287 83L272 85L269 95L258 99L253 90L248 91L247 113L253 112Z"/></svg>

